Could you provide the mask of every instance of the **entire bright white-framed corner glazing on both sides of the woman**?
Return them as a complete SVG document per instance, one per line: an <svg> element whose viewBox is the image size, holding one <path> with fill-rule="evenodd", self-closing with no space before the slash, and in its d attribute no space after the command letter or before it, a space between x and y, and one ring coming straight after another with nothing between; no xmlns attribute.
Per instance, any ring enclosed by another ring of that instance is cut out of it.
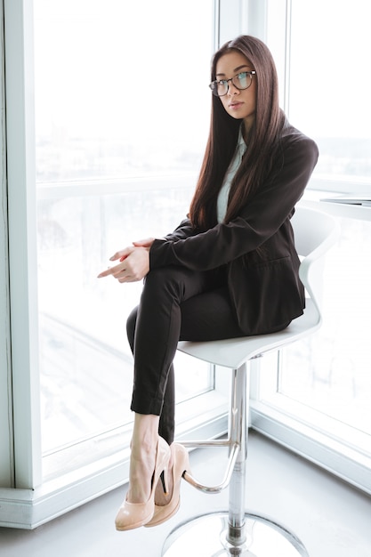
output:
<svg viewBox="0 0 371 557"><path fill-rule="evenodd" d="M3 179L0 254L5 262L9 224L9 269L0 269L0 310L9 318L0 326L4 526L33 528L127 477L131 356L124 344L125 315L141 285L120 288L95 276L117 249L119 236L127 243L163 234L184 216L205 146L215 44L241 32L267 40L278 63L281 105L294 125L319 142L312 190L370 191L370 115L363 109L368 77L365 64L360 67L369 43L366 0L355 0L351 10L331 0L128 4L4 0L2 153L7 149L8 200ZM345 26L355 14L357 20ZM150 44L144 51L150 65L139 72L131 61L143 54L141 44ZM334 52L342 52L348 66L343 88ZM308 85L310 73L314 85ZM156 105L150 114L143 108L144 85L152 87L150 106ZM170 90L176 94L169 96ZM337 125L342 101L352 94L357 101L346 105L351 117ZM175 114L182 134L173 133ZM319 198L321 192L314 194ZM252 389L252 422L371 491L365 211L345 207L339 213L343 236L328 257L325 326L278 359L264 357L262 380ZM351 261L361 266L355 269ZM348 319L339 313L340 296L349 305ZM106 327L109 319L114 321ZM338 347L341 359L333 358ZM192 437L223 432L227 375L183 359L177 366L194 370L191 390L178 374L178 431L192 431Z"/></svg>

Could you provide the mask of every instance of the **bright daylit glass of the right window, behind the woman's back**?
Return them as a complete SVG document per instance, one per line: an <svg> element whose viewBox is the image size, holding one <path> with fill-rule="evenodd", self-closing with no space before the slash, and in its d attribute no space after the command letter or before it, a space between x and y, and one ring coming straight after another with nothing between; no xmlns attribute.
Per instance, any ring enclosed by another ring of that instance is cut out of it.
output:
<svg viewBox="0 0 371 557"><path fill-rule="evenodd" d="M367 4L292 2L288 114L319 144L311 187L320 190L371 194ZM342 218L341 226L327 257L324 325L284 352L279 404L371 455L371 223Z"/></svg>

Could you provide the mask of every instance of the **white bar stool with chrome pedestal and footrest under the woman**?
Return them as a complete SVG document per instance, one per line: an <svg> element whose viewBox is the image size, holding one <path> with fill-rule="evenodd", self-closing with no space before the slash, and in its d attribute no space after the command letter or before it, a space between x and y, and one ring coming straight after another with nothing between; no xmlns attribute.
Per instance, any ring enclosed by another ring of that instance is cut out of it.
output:
<svg viewBox="0 0 371 557"><path fill-rule="evenodd" d="M190 473L184 474L184 480L205 493L219 493L229 486L229 509L196 516L177 526L165 539L165 557L309 557L302 542L278 521L245 512L249 363L320 327L324 256L339 235L332 216L303 206L296 208L292 223L295 246L302 256L299 274L309 296L303 315L271 335L178 345L178 350L191 356L232 369L228 439L180 441L186 447L229 448L229 464L219 485L205 486Z"/></svg>

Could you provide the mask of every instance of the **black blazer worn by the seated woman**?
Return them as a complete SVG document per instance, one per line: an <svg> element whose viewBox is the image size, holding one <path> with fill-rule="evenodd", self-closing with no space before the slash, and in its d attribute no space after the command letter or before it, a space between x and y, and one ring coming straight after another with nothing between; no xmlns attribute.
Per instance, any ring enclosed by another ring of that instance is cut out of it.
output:
<svg viewBox="0 0 371 557"><path fill-rule="evenodd" d="M316 143L287 123L270 175L238 217L206 232L194 230L189 219L182 221L172 234L154 241L149 268L226 265L231 302L244 333L286 327L305 305L290 218L318 156Z"/></svg>

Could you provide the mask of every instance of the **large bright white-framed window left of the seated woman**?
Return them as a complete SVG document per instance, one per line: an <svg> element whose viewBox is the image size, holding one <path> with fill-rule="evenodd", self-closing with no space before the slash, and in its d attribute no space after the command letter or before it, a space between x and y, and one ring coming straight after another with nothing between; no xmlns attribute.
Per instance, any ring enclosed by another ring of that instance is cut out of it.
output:
<svg viewBox="0 0 371 557"><path fill-rule="evenodd" d="M0 493L3 525L35 527L127 477L125 320L141 285L96 276L114 250L188 210L215 13L211 0L4 2L13 396L2 351L2 485L23 490ZM2 236L5 258L6 246ZM7 284L5 268L9 315ZM222 432L224 384L201 362L176 366L178 432Z"/></svg>

